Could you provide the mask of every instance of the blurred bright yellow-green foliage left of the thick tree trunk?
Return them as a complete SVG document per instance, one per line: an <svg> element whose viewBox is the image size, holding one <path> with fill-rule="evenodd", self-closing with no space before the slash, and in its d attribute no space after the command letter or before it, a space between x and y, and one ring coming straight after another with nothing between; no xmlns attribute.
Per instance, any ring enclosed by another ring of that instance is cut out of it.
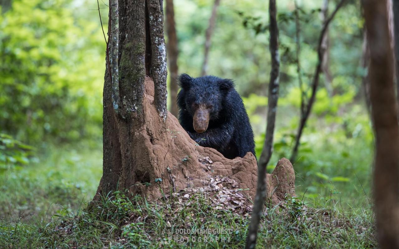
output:
<svg viewBox="0 0 399 249"><path fill-rule="evenodd" d="M69 0L14 0L0 16L1 131L29 143L99 134L105 43L82 21Z"/></svg>

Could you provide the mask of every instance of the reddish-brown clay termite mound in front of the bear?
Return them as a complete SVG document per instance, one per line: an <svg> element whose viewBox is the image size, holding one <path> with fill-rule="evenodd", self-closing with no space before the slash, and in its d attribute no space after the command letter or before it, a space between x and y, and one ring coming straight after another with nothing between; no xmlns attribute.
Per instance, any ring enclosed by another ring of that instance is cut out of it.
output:
<svg viewBox="0 0 399 249"><path fill-rule="evenodd" d="M252 153L243 158L226 159L215 149L197 145L169 112L164 124L153 105L154 82L146 77L145 84L146 122L134 134L136 169L129 171L134 177L124 172L120 186L153 199L161 196L160 189L164 193L177 192L208 185L215 176L228 176L235 180L232 188L242 189L241 193L253 200L258 174ZM128 184L129 178L138 180ZM146 184L148 182L150 184ZM278 204L286 194L295 195L294 182L292 164L286 158L280 159L273 173L267 174L267 190L272 204Z"/></svg>

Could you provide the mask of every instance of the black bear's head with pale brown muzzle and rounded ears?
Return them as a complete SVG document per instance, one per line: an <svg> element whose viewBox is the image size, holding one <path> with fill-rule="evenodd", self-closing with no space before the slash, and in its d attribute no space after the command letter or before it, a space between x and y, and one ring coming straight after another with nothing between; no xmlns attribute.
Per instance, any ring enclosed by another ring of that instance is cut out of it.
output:
<svg viewBox="0 0 399 249"><path fill-rule="evenodd" d="M181 88L178 96L180 108L193 117L193 127L198 133L206 131L210 120L219 117L228 92L234 89L234 82L216 76L192 78L182 74L178 77Z"/></svg>

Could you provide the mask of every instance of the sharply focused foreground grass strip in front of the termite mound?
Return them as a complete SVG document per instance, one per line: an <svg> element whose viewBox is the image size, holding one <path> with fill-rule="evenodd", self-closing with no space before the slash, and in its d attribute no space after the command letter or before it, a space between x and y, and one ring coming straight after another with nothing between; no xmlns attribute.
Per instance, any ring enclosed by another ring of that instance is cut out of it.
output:
<svg viewBox="0 0 399 249"><path fill-rule="evenodd" d="M0 247L243 248L250 220L249 215L215 208L201 193L183 202L173 196L148 202L117 192L101 206L49 223L3 226ZM373 215L371 210L354 214L308 208L288 198L283 206L267 209L257 248L264 247L374 248Z"/></svg>

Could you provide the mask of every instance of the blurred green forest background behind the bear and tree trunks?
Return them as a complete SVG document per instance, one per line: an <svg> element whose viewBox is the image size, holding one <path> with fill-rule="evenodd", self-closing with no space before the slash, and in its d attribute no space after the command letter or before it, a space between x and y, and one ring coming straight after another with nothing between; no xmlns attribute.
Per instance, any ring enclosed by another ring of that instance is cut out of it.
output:
<svg viewBox="0 0 399 249"><path fill-rule="evenodd" d="M102 175L105 41L95 0L1 0L0 220L26 222L78 212ZM105 31L108 7L100 0ZM280 99L273 157L290 157L300 117L294 1L277 3ZM317 62L322 1L298 1L302 78ZM330 1L330 10L335 1ZM211 0L175 0L179 73L199 76ZM373 133L362 80L363 20L359 1L329 29L332 92L322 75L302 136L298 196L310 205L361 212L369 206ZM270 73L267 1L221 1L209 74L232 78L244 99L260 155ZM167 37L166 37L167 39ZM169 79L168 79L169 80ZM174 100L169 100L174 101Z"/></svg>

